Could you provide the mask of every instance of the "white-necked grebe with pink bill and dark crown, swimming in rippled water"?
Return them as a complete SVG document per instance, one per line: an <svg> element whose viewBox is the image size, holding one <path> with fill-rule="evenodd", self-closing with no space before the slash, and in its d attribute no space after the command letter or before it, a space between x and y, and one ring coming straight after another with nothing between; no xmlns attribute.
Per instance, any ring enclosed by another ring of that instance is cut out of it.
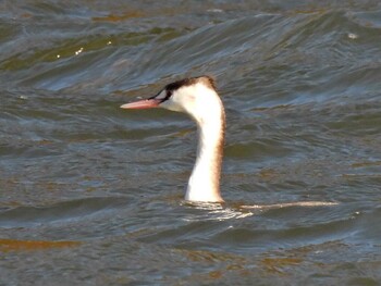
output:
<svg viewBox="0 0 381 286"><path fill-rule="evenodd" d="M202 75L176 80L157 95L121 105L122 109L163 108L188 114L197 125L196 162L188 179L185 200L219 202L223 157L225 111L211 76Z"/></svg>

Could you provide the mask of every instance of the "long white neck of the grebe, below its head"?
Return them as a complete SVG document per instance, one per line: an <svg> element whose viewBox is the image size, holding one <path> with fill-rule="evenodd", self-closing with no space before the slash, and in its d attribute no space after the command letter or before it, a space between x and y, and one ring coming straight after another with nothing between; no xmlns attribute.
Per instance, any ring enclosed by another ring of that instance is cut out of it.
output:
<svg viewBox="0 0 381 286"><path fill-rule="evenodd" d="M220 99L216 109L208 107L207 115L195 119L198 127L198 149L195 166L186 189L190 201L222 202L220 174L223 156L225 114Z"/></svg>

